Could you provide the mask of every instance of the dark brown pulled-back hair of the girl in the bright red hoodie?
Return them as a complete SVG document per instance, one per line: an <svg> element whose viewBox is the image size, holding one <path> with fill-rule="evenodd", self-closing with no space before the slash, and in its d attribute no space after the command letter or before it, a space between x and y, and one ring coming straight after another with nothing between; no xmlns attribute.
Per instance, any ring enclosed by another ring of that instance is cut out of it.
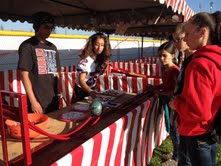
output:
<svg viewBox="0 0 221 166"><path fill-rule="evenodd" d="M198 28L208 28L211 43L221 46L221 12L198 13L191 17L188 22Z"/></svg>

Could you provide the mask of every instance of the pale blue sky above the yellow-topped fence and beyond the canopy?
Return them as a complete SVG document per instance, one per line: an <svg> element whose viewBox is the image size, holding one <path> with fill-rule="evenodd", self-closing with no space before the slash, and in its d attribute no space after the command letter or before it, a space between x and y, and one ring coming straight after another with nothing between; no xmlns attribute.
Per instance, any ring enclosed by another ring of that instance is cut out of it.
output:
<svg viewBox="0 0 221 166"><path fill-rule="evenodd" d="M195 13L198 12L215 12L217 10L221 11L221 0L186 0L187 4L192 8ZM210 8L210 3L213 2L212 8ZM4 30L18 30L18 31L33 31L32 24L27 22L21 23L19 21L4 22L0 19L0 27ZM59 34L72 34L72 35L91 35L93 32L85 32L81 30L73 30L68 28L56 27L56 33Z"/></svg>

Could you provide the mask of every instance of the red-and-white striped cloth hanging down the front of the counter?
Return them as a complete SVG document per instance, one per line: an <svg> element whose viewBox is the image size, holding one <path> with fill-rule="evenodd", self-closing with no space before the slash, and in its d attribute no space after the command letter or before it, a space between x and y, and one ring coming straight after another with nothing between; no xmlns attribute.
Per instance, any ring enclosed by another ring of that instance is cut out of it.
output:
<svg viewBox="0 0 221 166"><path fill-rule="evenodd" d="M151 103L151 104L150 104ZM52 166L146 166L167 137L164 113L152 98L103 129Z"/></svg>

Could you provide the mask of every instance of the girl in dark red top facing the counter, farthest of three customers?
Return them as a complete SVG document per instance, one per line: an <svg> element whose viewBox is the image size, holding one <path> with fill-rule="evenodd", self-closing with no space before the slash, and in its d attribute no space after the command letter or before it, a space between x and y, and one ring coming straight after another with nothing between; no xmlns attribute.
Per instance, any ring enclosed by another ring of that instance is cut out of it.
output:
<svg viewBox="0 0 221 166"><path fill-rule="evenodd" d="M176 80L179 75L179 67L175 63L176 46L173 41L165 42L158 48L158 54L162 63L163 84L154 87L154 93L159 95L165 111L166 130L170 134L173 143L172 159L178 161L179 133L175 124L174 111L168 107L169 101L173 98ZM160 104L161 105L161 104ZM159 106L159 108L162 108Z"/></svg>

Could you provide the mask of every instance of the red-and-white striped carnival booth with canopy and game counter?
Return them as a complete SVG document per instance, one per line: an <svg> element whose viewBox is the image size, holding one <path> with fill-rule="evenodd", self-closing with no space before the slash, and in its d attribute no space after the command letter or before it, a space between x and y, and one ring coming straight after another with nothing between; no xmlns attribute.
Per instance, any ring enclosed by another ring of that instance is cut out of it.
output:
<svg viewBox="0 0 221 166"><path fill-rule="evenodd" d="M12 0L1 3L0 18L30 22L39 10L63 27L156 38L193 14L185 0ZM112 62L107 71L99 99L71 104L75 67L63 67L60 109L37 120L28 117L20 71L0 71L0 165L147 165L168 135L159 99L148 91L162 83L158 60Z"/></svg>

